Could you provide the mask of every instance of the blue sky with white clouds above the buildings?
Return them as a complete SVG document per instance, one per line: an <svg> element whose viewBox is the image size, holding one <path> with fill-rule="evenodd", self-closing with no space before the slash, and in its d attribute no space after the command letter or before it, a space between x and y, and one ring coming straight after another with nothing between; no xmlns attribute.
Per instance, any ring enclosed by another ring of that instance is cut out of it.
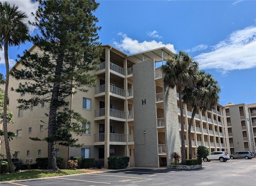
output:
<svg viewBox="0 0 256 186"><path fill-rule="evenodd" d="M2 1L2 0L1 0ZM9 0L30 16L36 4ZM97 0L102 44L134 54L166 46L186 51L222 89L220 104L256 103L256 1ZM30 20L33 18L30 16ZM31 33L36 28L30 28ZM10 67L31 43L9 48ZM5 74L1 51L0 71Z"/></svg>

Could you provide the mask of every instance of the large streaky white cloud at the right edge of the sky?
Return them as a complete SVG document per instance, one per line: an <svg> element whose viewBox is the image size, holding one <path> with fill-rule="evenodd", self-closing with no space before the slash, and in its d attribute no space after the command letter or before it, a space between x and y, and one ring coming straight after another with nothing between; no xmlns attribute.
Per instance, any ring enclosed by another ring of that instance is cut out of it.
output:
<svg viewBox="0 0 256 186"><path fill-rule="evenodd" d="M256 26L236 30L211 48L211 52L194 57L201 69L216 69L226 74L231 70L255 68Z"/></svg>

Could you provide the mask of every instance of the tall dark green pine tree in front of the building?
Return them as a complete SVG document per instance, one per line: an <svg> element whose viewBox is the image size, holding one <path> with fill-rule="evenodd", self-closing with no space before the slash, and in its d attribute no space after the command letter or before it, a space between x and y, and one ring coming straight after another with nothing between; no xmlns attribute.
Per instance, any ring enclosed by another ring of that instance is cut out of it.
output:
<svg viewBox="0 0 256 186"><path fill-rule="evenodd" d="M16 92L31 94L29 99L18 99L20 109L48 103L48 170L58 170L55 144L79 147L72 133L82 135L80 122L89 123L74 110L69 100L76 91L87 92L85 85L93 86L95 77L88 74L96 70L101 54L93 12L99 4L94 0L38 0L38 10L31 23L40 30L30 38L38 52L24 51L20 57L24 68L12 75L23 80Z"/></svg>

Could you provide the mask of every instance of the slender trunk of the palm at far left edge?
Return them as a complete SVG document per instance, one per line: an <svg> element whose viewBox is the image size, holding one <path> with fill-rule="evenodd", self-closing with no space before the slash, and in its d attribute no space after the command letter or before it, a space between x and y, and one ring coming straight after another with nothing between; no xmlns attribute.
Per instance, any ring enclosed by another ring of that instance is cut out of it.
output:
<svg viewBox="0 0 256 186"><path fill-rule="evenodd" d="M4 38L4 60L6 66L6 83L4 90L4 116L3 116L3 125L4 125L4 143L7 161L9 165L9 172L14 173L14 167L12 164L12 156L10 152L10 145L8 140L8 130L7 130L7 100L8 100L8 86L9 86L9 60L8 60L8 39Z"/></svg>

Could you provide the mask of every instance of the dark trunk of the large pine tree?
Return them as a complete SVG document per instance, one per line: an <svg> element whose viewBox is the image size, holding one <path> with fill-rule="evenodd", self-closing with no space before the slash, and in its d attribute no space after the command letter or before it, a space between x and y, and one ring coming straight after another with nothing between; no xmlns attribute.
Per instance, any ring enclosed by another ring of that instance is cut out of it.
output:
<svg viewBox="0 0 256 186"><path fill-rule="evenodd" d="M62 64L63 64L63 56L60 54L58 56L58 61L56 64L55 70L55 77L61 76L62 71ZM48 120L48 170L57 171L59 170L57 163L56 163L56 141L54 138L55 130L56 130L56 118L57 118L57 110L58 110L58 94L60 90L60 83L55 82L52 90L52 99L50 104L50 113L49 113L49 120Z"/></svg>

